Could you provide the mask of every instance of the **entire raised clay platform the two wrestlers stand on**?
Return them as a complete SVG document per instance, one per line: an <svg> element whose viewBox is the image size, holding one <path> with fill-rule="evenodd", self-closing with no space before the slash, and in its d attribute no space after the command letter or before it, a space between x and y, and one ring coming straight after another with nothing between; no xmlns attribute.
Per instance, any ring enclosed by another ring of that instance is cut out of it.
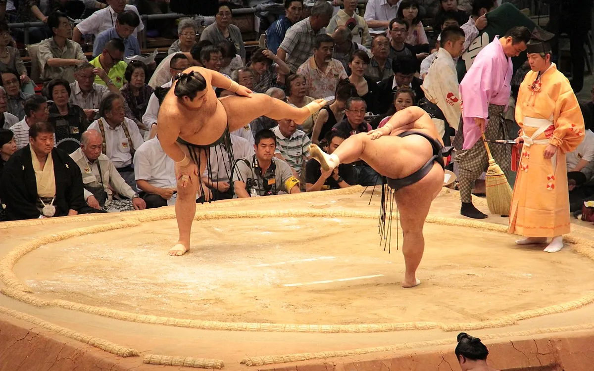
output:
<svg viewBox="0 0 594 371"><path fill-rule="evenodd" d="M352 187L197 205L182 257L173 207L0 223L0 370L458 370L460 331L497 369L593 369L591 224L548 254L444 189L404 289L379 202Z"/></svg>

